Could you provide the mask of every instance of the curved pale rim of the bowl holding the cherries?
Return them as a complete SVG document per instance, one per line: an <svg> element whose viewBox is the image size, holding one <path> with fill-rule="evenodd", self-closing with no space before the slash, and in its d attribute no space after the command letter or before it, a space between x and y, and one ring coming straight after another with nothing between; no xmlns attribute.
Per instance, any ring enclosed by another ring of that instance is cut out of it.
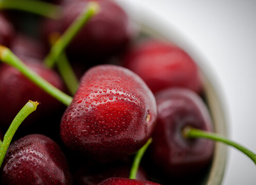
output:
<svg viewBox="0 0 256 185"><path fill-rule="evenodd" d="M131 17L132 22L139 25L143 33L154 35L157 39L171 42L184 49L190 57L196 61L202 73L203 91L205 93L206 102L210 109L210 114L214 123L215 132L227 137L227 119L223 98L219 93L220 88L216 83L213 72L206 64L206 59L199 53L198 49L189 42L178 29L171 24L166 24L162 18L148 10L147 8L132 6L131 3L124 1L117 3L125 9ZM136 4L137 5L137 4ZM143 12L139 11L143 10ZM210 167L210 173L206 177L207 185L220 185L225 173L227 161L227 146L222 143L215 143L213 161Z"/></svg>

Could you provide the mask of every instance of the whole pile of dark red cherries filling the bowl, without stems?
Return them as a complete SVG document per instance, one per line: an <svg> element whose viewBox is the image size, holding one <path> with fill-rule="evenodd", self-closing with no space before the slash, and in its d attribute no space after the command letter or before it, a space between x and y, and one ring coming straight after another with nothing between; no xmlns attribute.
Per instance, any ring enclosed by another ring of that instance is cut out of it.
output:
<svg viewBox="0 0 256 185"><path fill-rule="evenodd" d="M57 20L2 11L0 5L0 45L68 92L57 70L42 61L50 35L65 32L89 1L48 2L61 7ZM1 184L157 184L151 182L152 173L169 184L174 178L191 179L211 163L214 143L186 138L183 132L187 126L213 131L196 63L173 44L138 39L137 27L116 3L95 2L99 13L65 51L76 78L82 76L67 108L0 63L2 131L28 100L40 102L14 135L1 166ZM24 29L27 17L37 26L28 21ZM137 180L128 179L133 154L151 137Z"/></svg>

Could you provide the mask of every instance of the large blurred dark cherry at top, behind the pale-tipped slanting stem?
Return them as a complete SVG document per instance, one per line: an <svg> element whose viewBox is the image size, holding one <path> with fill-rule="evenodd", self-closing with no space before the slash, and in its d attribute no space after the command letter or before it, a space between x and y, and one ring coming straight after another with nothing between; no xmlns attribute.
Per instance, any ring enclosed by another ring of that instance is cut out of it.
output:
<svg viewBox="0 0 256 185"><path fill-rule="evenodd" d="M47 21L44 35L53 31L63 33L82 12L90 0L69 1L63 4L61 21ZM100 13L95 15L77 34L67 52L87 58L105 59L121 51L129 43L132 35L129 18L114 1L97 0ZM50 23L49 23L50 22ZM55 30L56 29L56 30Z"/></svg>

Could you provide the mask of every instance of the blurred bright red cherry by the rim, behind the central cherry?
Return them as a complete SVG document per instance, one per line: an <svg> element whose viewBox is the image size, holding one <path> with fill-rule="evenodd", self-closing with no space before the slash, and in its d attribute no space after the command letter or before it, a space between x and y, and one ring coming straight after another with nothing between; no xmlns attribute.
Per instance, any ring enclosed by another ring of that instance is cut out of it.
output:
<svg viewBox="0 0 256 185"><path fill-rule="evenodd" d="M127 52L124 66L140 76L153 93L168 87L185 87L201 92L198 66L178 46L148 40Z"/></svg>

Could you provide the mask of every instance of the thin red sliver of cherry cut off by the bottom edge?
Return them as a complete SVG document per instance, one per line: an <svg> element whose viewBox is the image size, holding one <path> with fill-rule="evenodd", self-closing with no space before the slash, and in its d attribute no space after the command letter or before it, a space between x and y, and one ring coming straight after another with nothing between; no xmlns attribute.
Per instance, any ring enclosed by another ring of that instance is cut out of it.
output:
<svg viewBox="0 0 256 185"><path fill-rule="evenodd" d="M161 185L147 180L135 180L127 178L109 178L98 185Z"/></svg>

